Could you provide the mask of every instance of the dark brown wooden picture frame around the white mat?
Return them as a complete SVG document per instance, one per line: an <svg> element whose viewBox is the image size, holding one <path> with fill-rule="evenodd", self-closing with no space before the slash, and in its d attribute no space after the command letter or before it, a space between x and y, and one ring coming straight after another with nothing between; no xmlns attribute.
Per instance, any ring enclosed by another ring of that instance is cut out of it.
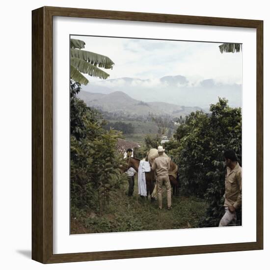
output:
<svg viewBox="0 0 270 270"><path fill-rule="evenodd" d="M248 27L256 29L256 242L84 253L53 253L53 17ZM41 263L263 249L263 21L62 7L32 11L32 259Z"/></svg>

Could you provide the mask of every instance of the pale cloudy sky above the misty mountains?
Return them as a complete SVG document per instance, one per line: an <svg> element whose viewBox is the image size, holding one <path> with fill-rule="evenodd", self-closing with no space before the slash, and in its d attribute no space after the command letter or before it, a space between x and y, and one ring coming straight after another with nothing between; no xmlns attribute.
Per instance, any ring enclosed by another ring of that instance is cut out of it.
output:
<svg viewBox="0 0 270 270"><path fill-rule="evenodd" d="M71 36L85 42L86 51L108 56L114 63L110 77L157 80L185 76L189 81L214 79L242 84L242 53L219 52L220 43ZM90 81L100 81L87 76Z"/></svg>

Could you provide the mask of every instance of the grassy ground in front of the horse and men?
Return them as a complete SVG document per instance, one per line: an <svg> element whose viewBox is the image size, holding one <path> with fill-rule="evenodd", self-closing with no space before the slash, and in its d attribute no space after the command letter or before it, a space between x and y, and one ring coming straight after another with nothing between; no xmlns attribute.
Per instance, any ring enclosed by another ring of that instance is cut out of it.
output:
<svg viewBox="0 0 270 270"><path fill-rule="evenodd" d="M113 194L103 216L94 211L71 220L71 234L130 232L197 228L205 215L207 204L195 197L172 196L173 209L166 209L166 192L162 193L163 209L158 210L158 201L151 202L137 195L127 196L128 183Z"/></svg>

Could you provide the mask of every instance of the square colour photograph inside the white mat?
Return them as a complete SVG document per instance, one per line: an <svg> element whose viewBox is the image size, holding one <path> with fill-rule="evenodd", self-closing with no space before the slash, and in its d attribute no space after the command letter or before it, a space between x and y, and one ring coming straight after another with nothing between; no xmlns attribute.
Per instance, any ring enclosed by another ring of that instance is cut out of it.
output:
<svg viewBox="0 0 270 270"><path fill-rule="evenodd" d="M70 35L70 234L242 225L242 44Z"/></svg>

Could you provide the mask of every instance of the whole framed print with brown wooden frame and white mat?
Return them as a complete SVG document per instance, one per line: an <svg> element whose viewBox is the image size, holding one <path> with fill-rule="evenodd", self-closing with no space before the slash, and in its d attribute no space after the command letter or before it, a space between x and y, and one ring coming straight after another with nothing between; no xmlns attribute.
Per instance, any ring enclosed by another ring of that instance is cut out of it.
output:
<svg viewBox="0 0 270 270"><path fill-rule="evenodd" d="M32 259L263 249L263 21L32 11Z"/></svg>

